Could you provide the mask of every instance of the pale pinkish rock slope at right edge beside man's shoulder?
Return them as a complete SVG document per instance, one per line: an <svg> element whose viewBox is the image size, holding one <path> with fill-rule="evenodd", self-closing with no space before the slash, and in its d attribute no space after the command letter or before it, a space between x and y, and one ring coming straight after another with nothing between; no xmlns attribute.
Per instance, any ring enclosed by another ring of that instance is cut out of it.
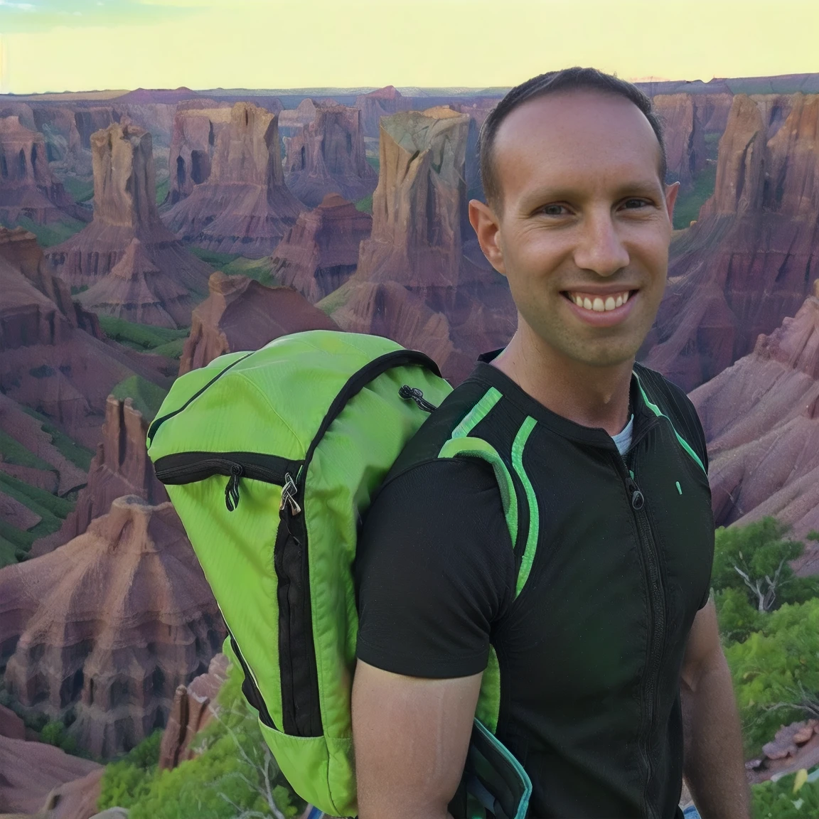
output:
<svg viewBox="0 0 819 819"><path fill-rule="evenodd" d="M819 530L819 281L794 318L690 394L702 419L717 525L773 515ZM819 572L819 544L800 559Z"/></svg>

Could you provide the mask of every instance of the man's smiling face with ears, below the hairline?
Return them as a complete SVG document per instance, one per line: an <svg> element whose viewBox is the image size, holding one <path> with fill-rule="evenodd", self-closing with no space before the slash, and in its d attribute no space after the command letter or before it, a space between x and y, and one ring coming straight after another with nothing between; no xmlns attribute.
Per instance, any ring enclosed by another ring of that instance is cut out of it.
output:
<svg viewBox="0 0 819 819"><path fill-rule="evenodd" d="M632 360L663 296L678 188L659 179L649 121L624 97L555 93L509 114L494 157L502 214L472 203L470 219L520 320L570 360Z"/></svg>

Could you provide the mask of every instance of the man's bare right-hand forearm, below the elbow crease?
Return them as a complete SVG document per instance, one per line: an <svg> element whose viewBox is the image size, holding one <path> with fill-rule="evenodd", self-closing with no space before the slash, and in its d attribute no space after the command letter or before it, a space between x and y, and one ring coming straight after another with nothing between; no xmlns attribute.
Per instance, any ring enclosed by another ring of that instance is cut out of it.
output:
<svg viewBox="0 0 819 819"><path fill-rule="evenodd" d="M697 809L703 819L749 819L742 731L722 651L681 697L685 774Z"/></svg>

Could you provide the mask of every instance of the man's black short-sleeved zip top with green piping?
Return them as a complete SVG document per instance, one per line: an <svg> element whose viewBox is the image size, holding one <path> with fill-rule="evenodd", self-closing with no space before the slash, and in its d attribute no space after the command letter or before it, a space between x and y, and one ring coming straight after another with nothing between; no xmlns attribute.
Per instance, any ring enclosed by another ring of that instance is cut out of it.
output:
<svg viewBox="0 0 819 819"><path fill-rule="evenodd" d="M402 453L360 534L358 657L458 677L482 672L492 645L495 733L532 778L531 817L679 816L679 672L713 559L707 455L685 394L635 372L623 459L604 430L477 364ZM500 400L470 434L514 477L514 543L491 465L437 456L493 390Z"/></svg>

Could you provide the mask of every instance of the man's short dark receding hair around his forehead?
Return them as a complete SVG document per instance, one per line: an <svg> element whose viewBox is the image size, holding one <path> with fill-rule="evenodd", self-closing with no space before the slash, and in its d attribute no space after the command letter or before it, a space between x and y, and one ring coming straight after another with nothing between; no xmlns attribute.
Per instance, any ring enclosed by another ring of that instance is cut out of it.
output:
<svg viewBox="0 0 819 819"><path fill-rule="evenodd" d="M633 102L640 111L645 114L645 119L649 120L651 128L657 135L660 146L660 182L665 183L668 170L668 161L663 141L663 124L659 120L651 98L640 91L636 85L628 83L625 79L604 74L596 68L564 68L561 71L548 71L532 79L527 79L525 83L516 85L506 96L489 112L481 126L481 132L477 138L477 157L481 168L481 181L483 183L483 193L486 201L493 206L500 206L500 184L495 174L495 158L493 149L495 147L495 135L498 133L500 124L506 119L515 108L523 105L536 97L545 97L546 94L557 93L559 91L574 90L595 90L604 93L615 93Z"/></svg>

